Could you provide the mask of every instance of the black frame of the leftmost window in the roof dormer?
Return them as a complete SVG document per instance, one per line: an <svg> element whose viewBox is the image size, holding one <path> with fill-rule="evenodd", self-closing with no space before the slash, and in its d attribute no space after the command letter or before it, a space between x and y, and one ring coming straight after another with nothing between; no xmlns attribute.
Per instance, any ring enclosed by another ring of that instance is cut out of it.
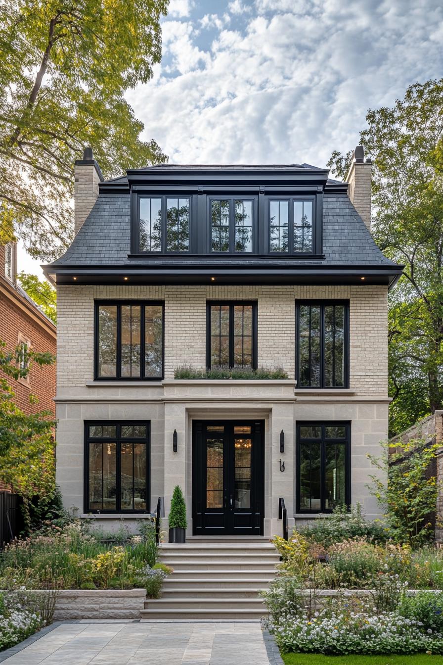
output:
<svg viewBox="0 0 443 665"><path fill-rule="evenodd" d="M194 216L197 209L195 194L191 192L180 192L171 190L170 192L137 192L134 193L132 200L132 251L140 256L187 256L194 251ZM140 248L140 201L141 199L161 199L161 249L159 251L147 251ZM188 249L176 251L167 249L167 199L189 199L189 243Z"/></svg>

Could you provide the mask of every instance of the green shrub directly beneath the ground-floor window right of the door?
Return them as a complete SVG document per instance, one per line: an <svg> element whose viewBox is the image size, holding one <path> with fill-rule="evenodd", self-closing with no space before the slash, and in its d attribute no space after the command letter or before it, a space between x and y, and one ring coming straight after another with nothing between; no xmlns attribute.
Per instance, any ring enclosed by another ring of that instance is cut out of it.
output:
<svg viewBox="0 0 443 665"><path fill-rule="evenodd" d="M337 506L333 513L320 515L311 525L302 527L300 533L324 547L350 538L365 537L376 542L387 539L387 534L379 523L365 519L359 503L353 505L349 511L345 506Z"/></svg>

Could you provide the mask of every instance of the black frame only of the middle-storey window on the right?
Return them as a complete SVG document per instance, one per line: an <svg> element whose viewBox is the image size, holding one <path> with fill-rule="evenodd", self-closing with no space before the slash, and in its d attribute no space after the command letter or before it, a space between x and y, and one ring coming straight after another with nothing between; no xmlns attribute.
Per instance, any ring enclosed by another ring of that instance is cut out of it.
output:
<svg viewBox="0 0 443 665"><path fill-rule="evenodd" d="M300 307L303 305L314 305L320 307L320 385L302 386L300 384ZM343 305L344 311L344 382L343 386L325 386L325 306ZM344 390L349 388L349 299L308 299L296 300L296 381L297 389L300 390Z"/></svg>

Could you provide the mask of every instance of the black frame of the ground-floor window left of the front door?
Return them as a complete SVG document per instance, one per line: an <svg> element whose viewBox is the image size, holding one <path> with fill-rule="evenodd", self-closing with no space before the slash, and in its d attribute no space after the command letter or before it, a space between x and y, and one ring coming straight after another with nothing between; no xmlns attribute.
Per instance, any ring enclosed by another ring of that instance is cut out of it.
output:
<svg viewBox="0 0 443 665"><path fill-rule="evenodd" d="M121 436L122 427L141 425L146 427L146 436L141 437L123 437ZM89 436L89 428L91 426L116 426L117 436ZM103 442L104 444L116 444L116 508L115 509L90 509L89 507L89 446L91 443ZM122 457L121 457L121 444L124 443L141 443L145 444L146 450L146 508L143 510L128 510L122 509L122 487L121 487L121 470L122 470ZM85 420L84 421L84 464L83 464L83 477L84 477L84 491L83 491L83 504L84 513L91 513L92 515L144 515L151 513L151 421L150 420Z"/></svg>

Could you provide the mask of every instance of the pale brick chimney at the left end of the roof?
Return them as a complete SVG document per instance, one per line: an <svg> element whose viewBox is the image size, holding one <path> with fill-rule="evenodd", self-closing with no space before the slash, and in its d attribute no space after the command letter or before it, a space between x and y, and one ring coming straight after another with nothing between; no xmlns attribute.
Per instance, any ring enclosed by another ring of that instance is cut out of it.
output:
<svg viewBox="0 0 443 665"><path fill-rule="evenodd" d="M98 183L103 182L92 148L85 148L83 159L74 164L74 232L78 233L98 197Z"/></svg>

